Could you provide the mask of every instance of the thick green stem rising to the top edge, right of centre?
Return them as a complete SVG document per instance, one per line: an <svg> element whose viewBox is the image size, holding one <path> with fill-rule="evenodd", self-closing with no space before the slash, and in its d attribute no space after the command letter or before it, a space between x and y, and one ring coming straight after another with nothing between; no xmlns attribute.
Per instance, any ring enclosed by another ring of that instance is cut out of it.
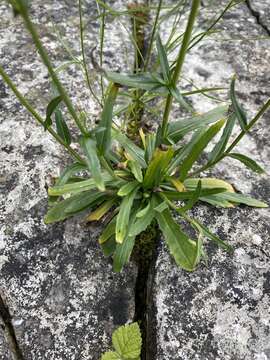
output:
<svg viewBox="0 0 270 360"><path fill-rule="evenodd" d="M183 42L182 42L182 45L181 45L181 48L179 51L179 55L177 58L177 62L176 62L176 66L175 66L175 70L174 70L174 74L173 74L173 78L172 78L172 84L171 84L172 87L176 87L177 81L181 74L181 70L182 70L185 56L186 56L186 53L188 50L188 46L189 46L190 38L192 35L192 30L193 30L193 26L194 26L194 23L196 20L196 16L197 16L197 13L199 10L199 6L200 6L200 0L192 1L192 6L191 6L189 18L188 18L188 23L186 26ZM162 139L164 139L164 137L166 136L166 133L167 133L167 127L168 127L169 115L170 115L171 107L172 107L172 101L173 101L173 97L171 94L169 94L167 96L165 111L163 114L163 120L162 120L162 125L161 125Z"/></svg>

